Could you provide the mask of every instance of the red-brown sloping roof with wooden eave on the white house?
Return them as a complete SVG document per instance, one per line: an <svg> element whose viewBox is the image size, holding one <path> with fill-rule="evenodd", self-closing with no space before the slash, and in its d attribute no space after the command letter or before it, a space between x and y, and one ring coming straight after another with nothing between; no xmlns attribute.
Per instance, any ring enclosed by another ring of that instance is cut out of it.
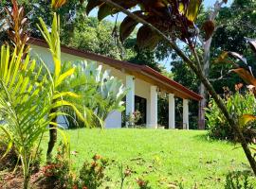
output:
<svg viewBox="0 0 256 189"><path fill-rule="evenodd" d="M36 39L36 38L30 38L28 43L46 47L46 48L48 47L45 41ZM127 61L114 60L114 59L104 57L92 52L78 50L65 45L62 45L62 52L66 54L78 56L84 59L95 60L101 63L105 63L116 69L124 71L127 74L133 75L139 79L149 82L157 86L161 91L174 94L177 97L181 97L185 99L193 99L193 100L202 99L201 95L192 92L191 90L184 87L183 85L175 82L174 80L168 77L161 75L160 73L156 72L154 69L146 65L137 65Z"/></svg>

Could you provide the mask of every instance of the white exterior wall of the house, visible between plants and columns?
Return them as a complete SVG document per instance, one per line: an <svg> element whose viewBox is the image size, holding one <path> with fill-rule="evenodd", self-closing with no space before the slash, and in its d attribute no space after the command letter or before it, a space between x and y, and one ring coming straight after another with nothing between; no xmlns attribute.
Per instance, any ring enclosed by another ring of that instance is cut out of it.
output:
<svg viewBox="0 0 256 189"><path fill-rule="evenodd" d="M41 60L49 66L50 69L53 69L51 54L46 47L41 47L37 45L31 45L31 56L36 58L39 57ZM85 60L78 56L69 55L66 53L62 53L62 61L78 61ZM95 62L94 60L87 60L88 62ZM115 69L109 65L103 64L101 62L97 62L98 65L102 65L103 70L111 70L111 75L113 77L118 77L126 86L126 76L127 74ZM147 99L147 124L150 123L150 87L151 84L147 83L139 78L135 78L135 94ZM64 118L59 118L60 123L64 122ZM64 126L65 127L65 126ZM111 112L107 116L105 120L105 128L121 128L121 112Z"/></svg>

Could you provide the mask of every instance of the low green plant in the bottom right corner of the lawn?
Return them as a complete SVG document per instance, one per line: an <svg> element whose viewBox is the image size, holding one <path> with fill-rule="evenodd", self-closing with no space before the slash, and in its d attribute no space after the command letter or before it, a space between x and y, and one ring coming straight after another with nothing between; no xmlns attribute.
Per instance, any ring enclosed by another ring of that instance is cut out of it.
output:
<svg viewBox="0 0 256 189"><path fill-rule="evenodd" d="M249 183L248 173L230 172L226 176L225 189L253 189L252 183Z"/></svg>

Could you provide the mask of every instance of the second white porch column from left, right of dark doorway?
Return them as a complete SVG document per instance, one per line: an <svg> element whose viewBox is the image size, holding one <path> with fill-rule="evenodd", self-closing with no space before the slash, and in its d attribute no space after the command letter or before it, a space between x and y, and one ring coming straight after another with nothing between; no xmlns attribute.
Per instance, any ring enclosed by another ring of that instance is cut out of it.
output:
<svg viewBox="0 0 256 189"><path fill-rule="evenodd" d="M157 92L156 86L150 87L150 117L149 128L157 129Z"/></svg>

